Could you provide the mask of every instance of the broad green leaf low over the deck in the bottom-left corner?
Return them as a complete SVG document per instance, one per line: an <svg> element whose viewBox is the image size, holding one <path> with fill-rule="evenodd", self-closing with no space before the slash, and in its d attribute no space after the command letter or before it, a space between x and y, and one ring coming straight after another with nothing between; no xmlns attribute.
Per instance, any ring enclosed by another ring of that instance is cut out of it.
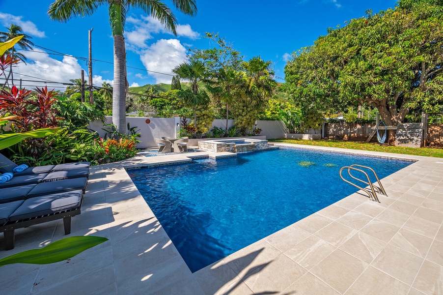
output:
<svg viewBox="0 0 443 295"><path fill-rule="evenodd" d="M51 264L60 262L97 246L108 239L101 236L70 236L55 241L41 249L23 251L0 260L0 267L16 264Z"/></svg>

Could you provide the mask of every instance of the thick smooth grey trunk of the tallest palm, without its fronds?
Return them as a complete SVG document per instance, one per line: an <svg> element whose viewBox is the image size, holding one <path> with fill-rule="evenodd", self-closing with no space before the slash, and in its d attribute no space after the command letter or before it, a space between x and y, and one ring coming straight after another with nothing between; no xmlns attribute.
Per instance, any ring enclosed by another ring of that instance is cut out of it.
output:
<svg viewBox="0 0 443 295"><path fill-rule="evenodd" d="M114 87L112 91L112 122L118 132L126 133L125 39L114 35Z"/></svg>

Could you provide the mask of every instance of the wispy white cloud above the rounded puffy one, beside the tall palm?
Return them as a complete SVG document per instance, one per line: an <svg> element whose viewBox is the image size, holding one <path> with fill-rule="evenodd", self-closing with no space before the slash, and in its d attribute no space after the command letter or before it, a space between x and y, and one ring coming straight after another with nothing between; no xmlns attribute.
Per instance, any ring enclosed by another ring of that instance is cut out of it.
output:
<svg viewBox="0 0 443 295"><path fill-rule="evenodd" d="M135 46L136 48L147 48L148 45L146 45L145 42L153 38L152 34L172 34L172 32L165 29L165 26L159 20L152 16L141 16L141 19L130 16L126 19L126 22L132 24L134 27L132 30L127 30L125 33L125 39L130 45L128 46L128 49L134 51L136 50L132 46ZM200 34L194 31L189 24L177 25L176 31L177 36L179 37L188 37L193 40L200 37Z"/></svg>

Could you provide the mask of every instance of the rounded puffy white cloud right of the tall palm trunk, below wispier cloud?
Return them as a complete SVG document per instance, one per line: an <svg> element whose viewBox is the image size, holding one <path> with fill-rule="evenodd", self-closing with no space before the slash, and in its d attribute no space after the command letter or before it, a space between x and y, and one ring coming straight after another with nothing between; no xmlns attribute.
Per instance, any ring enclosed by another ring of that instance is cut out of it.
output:
<svg viewBox="0 0 443 295"><path fill-rule="evenodd" d="M177 39L160 39L140 54L140 60L147 70L171 74L172 69L186 60L186 48ZM168 75L148 72L156 83L170 83Z"/></svg>

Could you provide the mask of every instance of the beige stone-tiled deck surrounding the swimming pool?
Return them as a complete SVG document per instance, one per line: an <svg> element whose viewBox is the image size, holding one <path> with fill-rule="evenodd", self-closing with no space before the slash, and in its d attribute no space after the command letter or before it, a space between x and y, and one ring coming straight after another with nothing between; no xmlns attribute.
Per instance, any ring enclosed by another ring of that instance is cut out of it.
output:
<svg viewBox="0 0 443 295"><path fill-rule="evenodd" d="M69 236L109 241L69 261L3 266L0 294L443 295L443 159L277 145L416 162L382 179L389 197L379 195L381 203L354 193L194 273L125 168L232 154L136 156L92 167ZM16 230L13 250L0 236L0 259L63 237L61 220Z"/></svg>

